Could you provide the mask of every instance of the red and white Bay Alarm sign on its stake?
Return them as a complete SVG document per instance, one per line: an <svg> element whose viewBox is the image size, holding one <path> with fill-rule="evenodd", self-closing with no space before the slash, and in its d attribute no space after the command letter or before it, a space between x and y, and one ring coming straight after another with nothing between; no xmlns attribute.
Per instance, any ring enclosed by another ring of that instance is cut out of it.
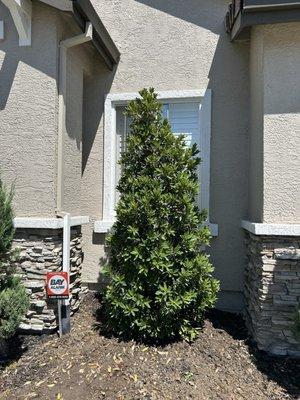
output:
<svg viewBox="0 0 300 400"><path fill-rule="evenodd" d="M63 302L69 300L69 274L68 272L47 273L47 296L58 300L59 336L70 331L70 316L66 314Z"/></svg>

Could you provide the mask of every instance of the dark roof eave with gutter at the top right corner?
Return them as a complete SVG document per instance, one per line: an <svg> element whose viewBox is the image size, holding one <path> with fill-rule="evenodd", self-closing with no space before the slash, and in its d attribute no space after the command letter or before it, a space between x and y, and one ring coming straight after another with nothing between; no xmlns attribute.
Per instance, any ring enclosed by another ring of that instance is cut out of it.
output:
<svg viewBox="0 0 300 400"><path fill-rule="evenodd" d="M300 21L300 1L232 0L225 25L231 40L245 40L253 25L296 21Z"/></svg>

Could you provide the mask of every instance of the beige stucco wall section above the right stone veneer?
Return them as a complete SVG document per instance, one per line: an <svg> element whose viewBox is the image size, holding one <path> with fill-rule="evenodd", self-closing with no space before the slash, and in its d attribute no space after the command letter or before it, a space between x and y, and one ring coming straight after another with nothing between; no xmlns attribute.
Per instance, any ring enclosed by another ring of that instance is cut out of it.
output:
<svg viewBox="0 0 300 400"><path fill-rule="evenodd" d="M300 23L264 29L264 221L300 222Z"/></svg>

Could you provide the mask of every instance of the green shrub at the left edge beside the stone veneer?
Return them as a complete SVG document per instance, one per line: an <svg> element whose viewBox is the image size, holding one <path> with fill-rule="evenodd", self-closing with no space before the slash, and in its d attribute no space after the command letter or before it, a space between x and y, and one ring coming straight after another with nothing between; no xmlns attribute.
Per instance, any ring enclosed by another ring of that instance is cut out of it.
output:
<svg viewBox="0 0 300 400"><path fill-rule="evenodd" d="M13 336L29 307L20 278L15 276L18 251L12 249L14 237L13 190L7 191L0 179L0 339Z"/></svg>

